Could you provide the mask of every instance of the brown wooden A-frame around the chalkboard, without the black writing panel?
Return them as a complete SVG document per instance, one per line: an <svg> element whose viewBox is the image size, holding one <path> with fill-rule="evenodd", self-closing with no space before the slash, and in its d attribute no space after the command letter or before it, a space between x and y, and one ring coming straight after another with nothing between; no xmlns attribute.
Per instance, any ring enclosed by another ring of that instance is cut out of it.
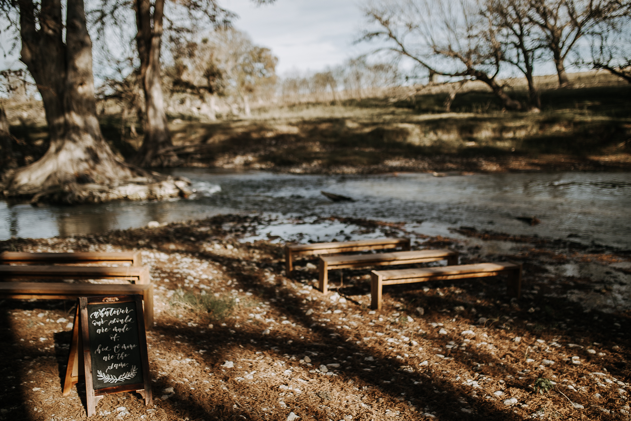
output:
<svg viewBox="0 0 631 421"><path fill-rule="evenodd" d="M134 384L111 386L107 388L94 388L94 373L92 369L92 354L90 348L89 312L88 306L104 303L122 304L133 302L136 304L136 326L138 328L138 345L143 374L143 381ZM73 338L70 345L68 367L64 379L63 394L68 395L70 390L79 381L79 376L85 376L86 406L88 417L96 415L96 406L106 394L136 391L144 398L145 405L151 405L151 376L149 371L149 359L147 355L146 331L144 326L143 301L141 295L99 295L93 297L78 297L77 309L74 315Z"/></svg>

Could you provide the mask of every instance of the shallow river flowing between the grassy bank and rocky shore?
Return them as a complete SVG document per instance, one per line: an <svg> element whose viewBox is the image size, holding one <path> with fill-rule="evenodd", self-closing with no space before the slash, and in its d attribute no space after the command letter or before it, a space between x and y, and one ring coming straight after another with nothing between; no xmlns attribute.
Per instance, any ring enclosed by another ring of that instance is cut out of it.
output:
<svg viewBox="0 0 631 421"><path fill-rule="evenodd" d="M448 227L466 225L631 249L631 172L433 177L174 169L170 174L191 179L198 190L196 196L163 202L42 208L0 202L0 239L98 233L143 227L152 220L162 223L220 213L263 212L408 222L415 223L417 232L429 235L446 235ZM355 201L333 203L321 190ZM531 227L517 216L537 216L541 223Z"/></svg>

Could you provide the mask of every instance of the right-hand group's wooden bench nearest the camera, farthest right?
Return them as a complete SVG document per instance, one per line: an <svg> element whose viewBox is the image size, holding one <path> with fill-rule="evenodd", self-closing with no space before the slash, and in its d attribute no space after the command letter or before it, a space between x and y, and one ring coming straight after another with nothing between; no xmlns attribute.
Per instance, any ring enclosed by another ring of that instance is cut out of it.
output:
<svg viewBox="0 0 631 421"><path fill-rule="evenodd" d="M372 283L371 304L373 309L381 309L381 294L384 285L463 278L482 278L484 276L496 276L501 274L508 275L507 284L509 294L519 298L519 295L521 294L521 264L517 263L477 263L423 269L374 270L370 275Z"/></svg>

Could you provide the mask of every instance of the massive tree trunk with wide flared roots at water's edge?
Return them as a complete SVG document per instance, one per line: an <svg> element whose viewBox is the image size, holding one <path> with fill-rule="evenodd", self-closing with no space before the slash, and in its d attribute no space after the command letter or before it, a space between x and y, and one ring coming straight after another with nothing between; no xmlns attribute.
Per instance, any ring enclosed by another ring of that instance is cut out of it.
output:
<svg viewBox="0 0 631 421"><path fill-rule="evenodd" d="M186 182L176 186L173 179L120 162L103 139L83 0L66 4L65 44L61 0L42 0L37 17L32 0L21 0L21 61L42 95L50 147L37 162L6 175L4 195L28 196L33 203L83 203L186 194Z"/></svg>

